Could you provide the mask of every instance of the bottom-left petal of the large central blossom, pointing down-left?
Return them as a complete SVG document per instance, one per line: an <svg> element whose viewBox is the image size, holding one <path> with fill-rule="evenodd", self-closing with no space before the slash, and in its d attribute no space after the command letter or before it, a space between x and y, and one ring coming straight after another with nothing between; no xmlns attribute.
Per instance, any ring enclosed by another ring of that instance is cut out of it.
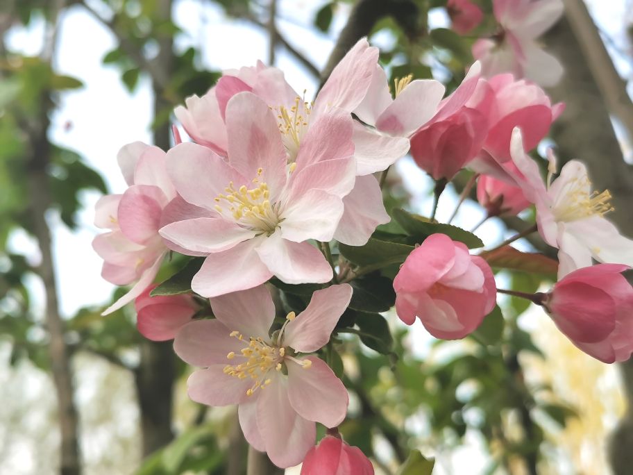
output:
<svg viewBox="0 0 633 475"><path fill-rule="evenodd" d="M203 297L256 287L273 276L255 252L264 238L240 242L226 251L210 254L192 280L192 290Z"/></svg>

